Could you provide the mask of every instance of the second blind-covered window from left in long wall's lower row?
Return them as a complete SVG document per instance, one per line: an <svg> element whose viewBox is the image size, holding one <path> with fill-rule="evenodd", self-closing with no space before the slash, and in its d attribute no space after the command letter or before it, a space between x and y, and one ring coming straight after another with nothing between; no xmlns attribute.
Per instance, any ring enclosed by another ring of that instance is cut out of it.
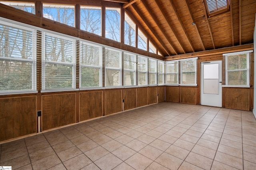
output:
<svg viewBox="0 0 256 170"><path fill-rule="evenodd" d="M42 90L75 89L75 41L43 33Z"/></svg>

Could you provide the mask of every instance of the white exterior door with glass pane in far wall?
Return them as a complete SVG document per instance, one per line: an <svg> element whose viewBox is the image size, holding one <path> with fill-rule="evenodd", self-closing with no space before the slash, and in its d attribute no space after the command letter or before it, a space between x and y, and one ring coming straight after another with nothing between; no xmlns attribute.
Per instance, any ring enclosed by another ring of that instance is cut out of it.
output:
<svg viewBox="0 0 256 170"><path fill-rule="evenodd" d="M222 107L222 61L201 63L201 105Z"/></svg>

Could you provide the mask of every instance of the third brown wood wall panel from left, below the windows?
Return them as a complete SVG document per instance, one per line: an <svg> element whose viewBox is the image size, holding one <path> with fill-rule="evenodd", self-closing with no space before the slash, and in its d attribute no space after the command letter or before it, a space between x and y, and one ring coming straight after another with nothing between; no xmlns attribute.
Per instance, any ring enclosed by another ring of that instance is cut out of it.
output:
<svg viewBox="0 0 256 170"><path fill-rule="evenodd" d="M81 92L79 95L79 121L84 121L103 115L102 91Z"/></svg>

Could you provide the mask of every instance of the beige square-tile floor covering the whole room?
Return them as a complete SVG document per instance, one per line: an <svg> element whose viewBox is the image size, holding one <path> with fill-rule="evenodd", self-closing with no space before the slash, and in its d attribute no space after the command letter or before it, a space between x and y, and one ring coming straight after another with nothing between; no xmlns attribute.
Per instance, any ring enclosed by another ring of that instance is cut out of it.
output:
<svg viewBox="0 0 256 170"><path fill-rule="evenodd" d="M19 170L255 170L250 111L162 102L0 145Z"/></svg>

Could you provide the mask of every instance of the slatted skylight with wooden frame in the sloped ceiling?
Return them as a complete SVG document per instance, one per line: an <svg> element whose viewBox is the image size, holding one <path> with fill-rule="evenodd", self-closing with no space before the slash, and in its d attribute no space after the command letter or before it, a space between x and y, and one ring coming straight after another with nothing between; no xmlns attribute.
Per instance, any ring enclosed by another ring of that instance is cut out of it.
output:
<svg viewBox="0 0 256 170"><path fill-rule="evenodd" d="M205 0L209 16L229 9L229 0Z"/></svg>

